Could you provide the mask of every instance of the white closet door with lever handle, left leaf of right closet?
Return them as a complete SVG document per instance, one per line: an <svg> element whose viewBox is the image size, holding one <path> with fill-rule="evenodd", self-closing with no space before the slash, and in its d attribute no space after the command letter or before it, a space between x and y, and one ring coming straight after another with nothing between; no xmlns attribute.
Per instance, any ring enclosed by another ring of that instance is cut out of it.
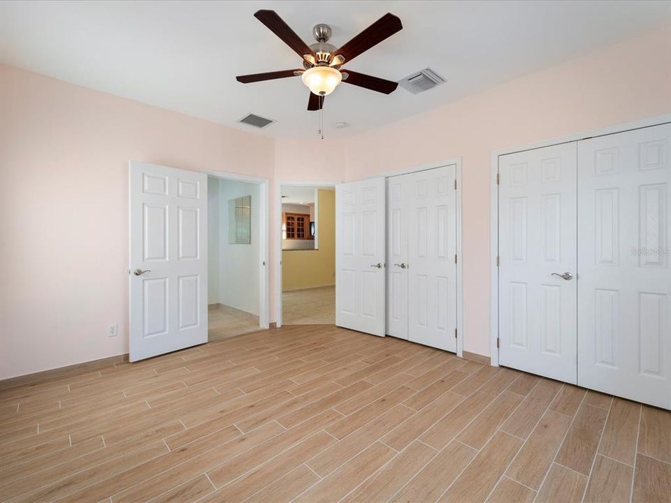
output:
<svg viewBox="0 0 671 503"><path fill-rule="evenodd" d="M576 148L499 157L498 229L500 364L574 384Z"/></svg>

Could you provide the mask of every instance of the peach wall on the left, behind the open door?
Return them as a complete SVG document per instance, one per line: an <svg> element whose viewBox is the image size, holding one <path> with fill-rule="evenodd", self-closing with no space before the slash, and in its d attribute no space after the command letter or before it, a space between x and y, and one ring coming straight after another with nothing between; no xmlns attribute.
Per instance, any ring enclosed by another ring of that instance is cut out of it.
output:
<svg viewBox="0 0 671 503"><path fill-rule="evenodd" d="M128 351L129 159L272 178L274 142L0 66L0 379Z"/></svg>

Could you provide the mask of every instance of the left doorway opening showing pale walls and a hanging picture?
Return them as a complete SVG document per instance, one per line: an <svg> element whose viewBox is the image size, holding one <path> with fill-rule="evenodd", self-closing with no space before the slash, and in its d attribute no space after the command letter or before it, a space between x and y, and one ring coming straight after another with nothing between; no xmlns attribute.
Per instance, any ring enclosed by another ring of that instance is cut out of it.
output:
<svg viewBox="0 0 671 503"><path fill-rule="evenodd" d="M262 192L258 182L208 176L209 342L263 328Z"/></svg>

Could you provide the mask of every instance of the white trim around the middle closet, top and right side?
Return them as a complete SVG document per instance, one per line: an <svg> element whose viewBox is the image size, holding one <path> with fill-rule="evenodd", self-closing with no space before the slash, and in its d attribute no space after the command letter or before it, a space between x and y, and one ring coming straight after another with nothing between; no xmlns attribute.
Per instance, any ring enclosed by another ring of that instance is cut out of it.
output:
<svg viewBox="0 0 671 503"><path fill-rule="evenodd" d="M454 157L453 159L447 159L446 161L420 164L419 166L411 166L410 168L386 171L368 178L389 178L398 175L417 173L418 171L442 168L445 166L455 166L456 172L456 356L461 358L463 356L463 340L465 333L463 326L463 253L461 249L461 157ZM385 215L385 219L386 217L387 216Z"/></svg>

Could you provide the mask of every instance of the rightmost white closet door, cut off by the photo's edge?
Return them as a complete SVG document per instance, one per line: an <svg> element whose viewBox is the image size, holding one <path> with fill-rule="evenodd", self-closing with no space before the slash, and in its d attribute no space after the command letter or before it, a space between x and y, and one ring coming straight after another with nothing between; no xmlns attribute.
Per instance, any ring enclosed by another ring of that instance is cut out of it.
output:
<svg viewBox="0 0 671 503"><path fill-rule="evenodd" d="M578 383L671 408L671 125L579 142Z"/></svg>

